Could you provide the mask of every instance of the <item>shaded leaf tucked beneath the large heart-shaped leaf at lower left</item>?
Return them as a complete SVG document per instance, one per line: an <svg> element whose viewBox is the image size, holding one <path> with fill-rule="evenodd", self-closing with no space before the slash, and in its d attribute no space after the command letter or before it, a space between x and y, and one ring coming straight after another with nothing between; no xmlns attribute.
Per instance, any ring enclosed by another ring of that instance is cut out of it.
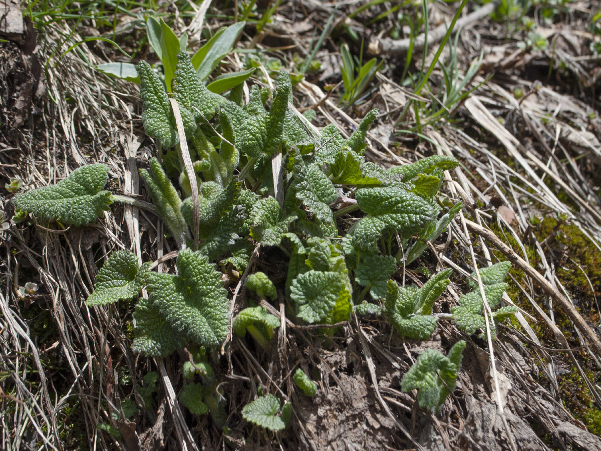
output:
<svg viewBox="0 0 601 451"><path fill-rule="evenodd" d="M165 357L185 343L180 334L175 333L165 317L150 304L141 299L133 313L135 319L133 352L150 357Z"/></svg>

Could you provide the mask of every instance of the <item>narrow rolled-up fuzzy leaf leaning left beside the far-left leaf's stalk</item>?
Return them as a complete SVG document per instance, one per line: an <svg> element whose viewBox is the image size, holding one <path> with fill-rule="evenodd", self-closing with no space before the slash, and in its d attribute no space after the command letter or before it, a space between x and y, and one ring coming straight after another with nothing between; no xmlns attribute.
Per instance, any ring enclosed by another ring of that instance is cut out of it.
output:
<svg viewBox="0 0 601 451"><path fill-rule="evenodd" d="M144 180L148 194L150 194L156 209L159 210L161 218L181 247L188 238L188 226L180 211L182 200L180 200L177 190L166 176L159 161L154 157L150 160L150 173L141 169L140 176Z"/></svg>

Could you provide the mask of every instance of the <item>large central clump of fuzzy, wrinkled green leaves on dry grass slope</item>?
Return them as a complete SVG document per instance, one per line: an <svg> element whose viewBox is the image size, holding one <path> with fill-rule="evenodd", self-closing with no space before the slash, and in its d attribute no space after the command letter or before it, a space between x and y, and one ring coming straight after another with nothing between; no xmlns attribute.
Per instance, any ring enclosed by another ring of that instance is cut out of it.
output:
<svg viewBox="0 0 601 451"><path fill-rule="evenodd" d="M175 132L175 115L165 89L147 64L141 63L139 72L145 129L163 147L177 146L166 153L165 164L169 163L166 167L176 176L182 192L191 194L178 156L180 137ZM133 346L139 352L166 355L188 340L216 346L224 339L227 302L219 272L210 260L222 260L224 254L227 259L231 253L230 258L243 267L243 256L250 251L248 238L267 246L282 246L284 239L289 242L286 290L295 313L307 322L335 324L349 318L353 304L363 301L368 289L374 299L385 294L385 278L367 271L372 262L382 262L386 277L391 276L395 264L403 260L400 249L407 248L414 233L429 230L432 225L441 230L448 223L440 225L436 220L440 208L434 196L442 183L442 170L457 162L430 158L388 171L365 162L364 138L375 111L347 140L329 127L322 137L312 137L302 121L288 111L291 86L285 74L278 78L269 112L264 105L268 100L264 94L269 94L266 91L254 88L244 108L210 93L200 83L186 54L178 55L173 85L174 97L186 102L180 111L191 143L191 158L198 168L199 228L192 233L188 228L194 225L194 195L182 201L168 174L157 159L152 159L150 173L142 170L141 176L153 208L182 248L177 262L179 275L137 268L132 254L121 253L106 263L90 297L90 305L133 298L144 283L148 284L150 298L142 299L135 313ZM197 110L206 115L195 116ZM216 111L222 134L204 123ZM286 181L282 203L274 197L272 171L266 170L276 152L284 153L286 162L285 167L282 165ZM177 177L178 171L182 172ZM90 165L57 185L18 195L14 202L17 208L40 219L83 225L107 210L111 201L133 203L103 191L105 183L106 167ZM264 192L263 197L241 184L256 186ZM363 212L358 222L342 231L340 245L328 239L339 234L329 207L337 198L337 186L358 188L354 209ZM148 208L147 204L138 206ZM201 239L197 253L185 249L191 245L192 236ZM392 245L393 237L400 239L399 250ZM260 277L252 275L251 285ZM355 283L364 284L365 289L353 299ZM194 291L183 286L194 287ZM272 296L272 288L264 294Z"/></svg>

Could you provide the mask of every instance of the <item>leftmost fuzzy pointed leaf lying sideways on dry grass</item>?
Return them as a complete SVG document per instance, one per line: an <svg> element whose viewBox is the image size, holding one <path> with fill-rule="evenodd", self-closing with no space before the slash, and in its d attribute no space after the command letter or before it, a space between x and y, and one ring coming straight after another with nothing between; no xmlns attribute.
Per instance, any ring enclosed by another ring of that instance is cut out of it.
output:
<svg viewBox="0 0 601 451"><path fill-rule="evenodd" d="M56 185L17 195L14 206L44 221L87 225L109 210L112 203L111 193L102 191L107 173L108 168L103 164L78 168Z"/></svg>

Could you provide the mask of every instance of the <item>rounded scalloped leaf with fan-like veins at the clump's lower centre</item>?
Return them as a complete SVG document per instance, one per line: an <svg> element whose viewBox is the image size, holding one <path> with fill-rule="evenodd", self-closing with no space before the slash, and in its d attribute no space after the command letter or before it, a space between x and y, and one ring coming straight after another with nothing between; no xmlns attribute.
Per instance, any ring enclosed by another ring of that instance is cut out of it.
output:
<svg viewBox="0 0 601 451"><path fill-rule="evenodd" d="M290 286L299 318L310 323L334 324L349 318L350 290L338 272L307 271Z"/></svg>

